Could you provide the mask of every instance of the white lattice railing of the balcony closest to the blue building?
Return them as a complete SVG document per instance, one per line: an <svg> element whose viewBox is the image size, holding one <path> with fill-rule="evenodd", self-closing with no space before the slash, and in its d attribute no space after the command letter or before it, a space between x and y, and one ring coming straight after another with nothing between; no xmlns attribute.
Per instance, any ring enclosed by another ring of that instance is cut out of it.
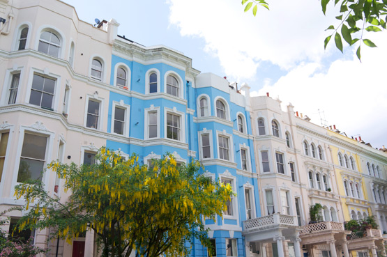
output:
<svg viewBox="0 0 387 257"><path fill-rule="evenodd" d="M298 226L298 224L296 217L279 213L243 221L244 231L263 230L275 226Z"/></svg>

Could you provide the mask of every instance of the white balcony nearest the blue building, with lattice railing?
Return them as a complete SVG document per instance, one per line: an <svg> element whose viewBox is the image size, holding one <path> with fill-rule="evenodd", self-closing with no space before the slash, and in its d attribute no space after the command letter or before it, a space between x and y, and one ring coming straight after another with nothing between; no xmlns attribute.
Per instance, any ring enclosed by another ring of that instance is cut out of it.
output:
<svg viewBox="0 0 387 257"><path fill-rule="evenodd" d="M288 239L296 236L298 228L297 217L280 213L243 221L243 235L248 242L273 240L277 235Z"/></svg>

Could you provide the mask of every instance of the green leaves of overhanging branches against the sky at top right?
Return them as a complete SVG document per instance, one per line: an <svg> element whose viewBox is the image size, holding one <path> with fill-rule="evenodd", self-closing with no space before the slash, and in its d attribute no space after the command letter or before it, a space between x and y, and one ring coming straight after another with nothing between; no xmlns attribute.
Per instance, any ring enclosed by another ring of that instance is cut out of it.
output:
<svg viewBox="0 0 387 257"><path fill-rule="evenodd" d="M331 0L321 0L321 8L324 15ZM361 60L361 45L377 47L374 42L365 38L367 32L379 32L386 29L387 23L387 0L335 0L334 5L338 13L337 25L328 26L327 31L333 31L324 40L324 48L331 38L335 38L337 49L342 52L342 38L348 45L358 44L356 55ZM268 3L264 0L242 0L245 5L245 12L252 8L252 14L257 15L257 6L264 6L268 9ZM252 7L254 6L254 7Z"/></svg>

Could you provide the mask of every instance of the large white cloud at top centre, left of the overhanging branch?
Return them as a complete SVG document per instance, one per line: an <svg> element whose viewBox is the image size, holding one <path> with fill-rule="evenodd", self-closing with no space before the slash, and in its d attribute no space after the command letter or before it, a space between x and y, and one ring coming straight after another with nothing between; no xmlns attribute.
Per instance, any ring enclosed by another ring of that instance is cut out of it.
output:
<svg viewBox="0 0 387 257"><path fill-rule="evenodd" d="M243 13L236 0L169 0L169 21L182 36L204 38L204 51L215 54L228 76L249 79L259 61L292 68L300 60L318 61L328 19L318 1L275 0L271 10L258 8L257 17ZM332 20L331 20L332 21Z"/></svg>

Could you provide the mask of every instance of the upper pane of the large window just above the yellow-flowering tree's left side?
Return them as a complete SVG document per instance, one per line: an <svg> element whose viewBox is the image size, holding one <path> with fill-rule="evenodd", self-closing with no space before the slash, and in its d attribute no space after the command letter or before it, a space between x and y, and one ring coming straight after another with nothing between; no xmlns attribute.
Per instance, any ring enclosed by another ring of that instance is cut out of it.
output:
<svg viewBox="0 0 387 257"><path fill-rule="evenodd" d="M40 137L35 134L24 134L22 157L33 159L45 159L47 137Z"/></svg>

